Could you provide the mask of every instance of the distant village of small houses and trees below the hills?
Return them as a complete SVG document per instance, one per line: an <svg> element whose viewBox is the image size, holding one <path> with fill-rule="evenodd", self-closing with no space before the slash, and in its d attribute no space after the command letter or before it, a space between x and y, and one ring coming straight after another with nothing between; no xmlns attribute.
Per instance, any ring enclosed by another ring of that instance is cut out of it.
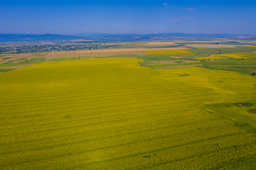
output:
<svg viewBox="0 0 256 170"><path fill-rule="evenodd" d="M73 51L73 50L96 50L110 47L119 47L121 45L106 45L106 44L50 44L50 45L20 45L12 47L0 47L0 52L53 52L53 51Z"/></svg>

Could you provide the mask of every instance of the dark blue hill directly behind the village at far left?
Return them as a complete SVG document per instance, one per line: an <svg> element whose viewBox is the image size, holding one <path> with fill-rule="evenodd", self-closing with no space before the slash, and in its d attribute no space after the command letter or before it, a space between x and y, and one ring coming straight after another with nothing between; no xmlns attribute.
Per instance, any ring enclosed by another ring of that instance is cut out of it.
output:
<svg viewBox="0 0 256 170"><path fill-rule="evenodd" d="M0 42L75 40L83 38L76 35L58 34L0 34Z"/></svg>

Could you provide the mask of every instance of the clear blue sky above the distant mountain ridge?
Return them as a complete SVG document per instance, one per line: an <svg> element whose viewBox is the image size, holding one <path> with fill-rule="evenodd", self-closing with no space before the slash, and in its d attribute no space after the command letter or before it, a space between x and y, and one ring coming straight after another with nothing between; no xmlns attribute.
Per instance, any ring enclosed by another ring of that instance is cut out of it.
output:
<svg viewBox="0 0 256 170"><path fill-rule="evenodd" d="M0 1L0 33L256 35L256 1Z"/></svg>

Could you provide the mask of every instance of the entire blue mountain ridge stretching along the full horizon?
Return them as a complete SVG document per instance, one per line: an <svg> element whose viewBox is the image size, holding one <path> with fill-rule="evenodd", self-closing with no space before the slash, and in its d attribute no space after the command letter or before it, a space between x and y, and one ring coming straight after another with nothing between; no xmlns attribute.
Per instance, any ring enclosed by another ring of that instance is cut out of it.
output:
<svg viewBox="0 0 256 170"><path fill-rule="evenodd" d="M132 40L171 40L189 38L230 38L238 40L256 40L254 35L236 34L188 34L188 33L158 33L158 34L107 34L80 33L79 35L58 34L0 34L0 42L34 42L63 40L94 40L101 41L132 41ZM82 42L82 41L81 41Z"/></svg>

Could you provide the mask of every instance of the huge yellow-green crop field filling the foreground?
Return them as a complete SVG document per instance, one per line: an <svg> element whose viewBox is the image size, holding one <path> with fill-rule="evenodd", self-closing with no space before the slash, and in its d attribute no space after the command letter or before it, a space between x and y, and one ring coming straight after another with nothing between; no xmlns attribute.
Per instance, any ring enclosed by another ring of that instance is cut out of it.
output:
<svg viewBox="0 0 256 170"><path fill-rule="evenodd" d="M137 62L49 62L0 74L0 168L255 166L255 129L203 106L255 101L255 77Z"/></svg>

